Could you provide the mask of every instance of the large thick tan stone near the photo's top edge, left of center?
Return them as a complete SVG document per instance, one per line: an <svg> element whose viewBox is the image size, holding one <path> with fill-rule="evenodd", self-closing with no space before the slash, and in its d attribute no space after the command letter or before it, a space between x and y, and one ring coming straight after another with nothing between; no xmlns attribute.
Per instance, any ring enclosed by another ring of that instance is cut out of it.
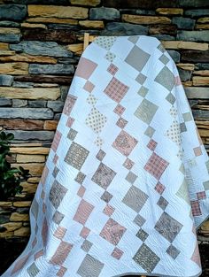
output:
<svg viewBox="0 0 209 277"><path fill-rule="evenodd" d="M28 4L27 11L29 17L41 16L61 19L88 18L88 9L82 7Z"/></svg>

